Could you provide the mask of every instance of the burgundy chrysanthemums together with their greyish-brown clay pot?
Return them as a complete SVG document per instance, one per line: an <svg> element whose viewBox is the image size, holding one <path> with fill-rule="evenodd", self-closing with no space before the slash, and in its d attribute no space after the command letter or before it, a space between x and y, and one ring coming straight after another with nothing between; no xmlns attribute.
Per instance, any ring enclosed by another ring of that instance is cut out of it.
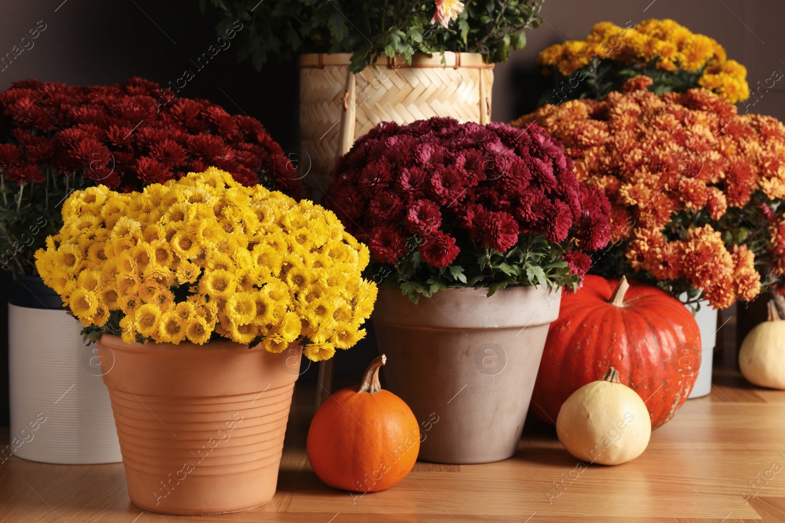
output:
<svg viewBox="0 0 785 523"><path fill-rule="evenodd" d="M389 389L432 423L420 456L512 456L561 289L610 238L602 191L538 125L431 118L361 137L326 205L371 250Z"/></svg>

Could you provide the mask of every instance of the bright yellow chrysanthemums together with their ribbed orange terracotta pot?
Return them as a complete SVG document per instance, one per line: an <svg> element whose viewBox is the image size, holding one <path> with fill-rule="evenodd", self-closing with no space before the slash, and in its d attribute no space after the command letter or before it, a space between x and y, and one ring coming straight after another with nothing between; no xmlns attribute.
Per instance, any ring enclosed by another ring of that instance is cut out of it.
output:
<svg viewBox="0 0 785 523"><path fill-rule="evenodd" d="M214 168L76 191L36 252L97 340L131 501L166 514L266 503L300 355L365 334L368 249L333 212Z"/></svg>

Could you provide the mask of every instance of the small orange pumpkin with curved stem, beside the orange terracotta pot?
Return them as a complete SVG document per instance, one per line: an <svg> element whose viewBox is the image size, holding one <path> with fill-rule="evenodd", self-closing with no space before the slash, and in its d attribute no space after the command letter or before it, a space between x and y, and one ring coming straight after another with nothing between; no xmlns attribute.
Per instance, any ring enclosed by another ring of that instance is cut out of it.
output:
<svg viewBox="0 0 785 523"><path fill-rule="evenodd" d="M359 387L327 398L308 431L313 471L334 488L378 492L406 477L420 452L414 413L379 384L385 355L371 362Z"/></svg>

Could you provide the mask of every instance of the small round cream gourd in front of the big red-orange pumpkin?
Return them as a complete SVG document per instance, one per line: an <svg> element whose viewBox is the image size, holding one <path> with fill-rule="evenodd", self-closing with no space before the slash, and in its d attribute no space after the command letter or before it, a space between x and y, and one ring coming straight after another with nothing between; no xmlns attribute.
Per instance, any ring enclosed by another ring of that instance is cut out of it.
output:
<svg viewBox="0 0 785 523"><path fill-rule="evenodd" d="M652 435L652 419L637 392L610 369L602 380L575 390L556 419L564 449L578 459L618 465L641 456Z"/></svg>

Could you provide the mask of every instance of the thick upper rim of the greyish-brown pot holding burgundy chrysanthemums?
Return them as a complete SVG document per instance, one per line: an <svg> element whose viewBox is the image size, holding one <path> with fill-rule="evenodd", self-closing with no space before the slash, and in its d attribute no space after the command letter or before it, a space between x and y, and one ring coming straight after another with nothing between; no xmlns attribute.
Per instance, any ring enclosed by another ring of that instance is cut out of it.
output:
<svg viewBox="0 0 785 523"><path fill-rule="evenodd" d="M435 329L496 329L546 325L559 317L561 289L512 286L487 296L487 287L450 287L417 304L400 289L380 288L375 323Z"/></svg>

